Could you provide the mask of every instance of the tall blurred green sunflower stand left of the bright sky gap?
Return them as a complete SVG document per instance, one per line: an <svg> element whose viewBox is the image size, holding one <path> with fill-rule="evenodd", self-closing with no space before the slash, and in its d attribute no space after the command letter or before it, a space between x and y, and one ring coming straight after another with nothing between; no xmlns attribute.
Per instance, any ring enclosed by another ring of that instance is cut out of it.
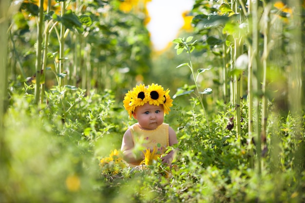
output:
<svg viewBox="0 0 305 203"><path fill-rule="evenodd" d="M47 4L44 5L45 24L40 28L37 2L23 2L9 29L12 55L8 62L12 70L9 77L21 74L25 80L36 72L34 50L38 48L38 36L35 33L41 29L43 42L38 53L45 56L38 70L50 67L60 76L45 75L46 90L64 82L88 91L93 87L124 91L126 84L135 81L135 76L145 77L150 73L151 45L143 23L146 14L124 13L119 10L120 3L118 0L52 1L47 12Z"/></svg>

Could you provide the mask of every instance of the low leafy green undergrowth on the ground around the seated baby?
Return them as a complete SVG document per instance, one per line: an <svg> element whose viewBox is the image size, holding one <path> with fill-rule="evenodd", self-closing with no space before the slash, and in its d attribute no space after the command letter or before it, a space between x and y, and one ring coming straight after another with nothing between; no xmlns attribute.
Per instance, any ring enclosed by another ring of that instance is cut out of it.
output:
<svg viewBox="0 0 305 203"><path fill-rule="evenodd" d="M243 136L238 138L235 129L228 128L234 125L231 106L217 103L219 113L209 115L209 129L202 122L196 98L190 99L189 106L175 100L172 113L176 121L171 125L177 128L179 140L176 166L170 169L157 161L143 170L124 168L116 174L103 174L99 159L120 148L131 122L127 113L122 107L116 108L112 91L85 95L81 89L59 88L46 94L48 103L38 110L30 102L33 97L12 93L5 118L5 134L9 136L4 137L9 161L1 163L10 166L8 178L0 184L0 188L9 188L0 190L3 202L128 199L143 203L226 203L305 198L297 192L298 187L305 188L304 157L298 156L300 162L294 160L297 153L303 153L299 149L304 148L305 116L278 119L275 115L269 119L268 150L264 170L258 175L248 162L247 105L241 107Z"/></svg>

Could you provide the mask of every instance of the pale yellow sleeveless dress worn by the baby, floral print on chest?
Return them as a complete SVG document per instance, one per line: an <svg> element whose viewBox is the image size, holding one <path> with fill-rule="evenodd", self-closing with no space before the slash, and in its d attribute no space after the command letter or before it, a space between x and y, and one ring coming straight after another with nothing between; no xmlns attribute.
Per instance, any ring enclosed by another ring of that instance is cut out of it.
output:
<svg viewBox="0 0 305 203"><path fill-rule="evenodd" d="M163 123L153 130L141 129L139 123L135 123L129 127L133 138L133 144L139 138L144 138L142 144L145 148L157 149L156 154L163 154L166 148L170 145L169 142L169 124Z"/></svg>

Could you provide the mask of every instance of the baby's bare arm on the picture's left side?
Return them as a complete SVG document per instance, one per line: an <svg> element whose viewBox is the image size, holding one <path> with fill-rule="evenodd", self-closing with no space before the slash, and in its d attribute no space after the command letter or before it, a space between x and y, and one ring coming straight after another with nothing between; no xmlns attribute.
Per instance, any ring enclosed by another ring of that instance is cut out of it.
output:
<svg viewBox="0 0 305 203"><path fill-rule="evenodd" d="M121 151L123 153L124 160L131 164L134 164L139 160L144 159L144 154L142 152L135 156L135 154L133 153L133 147L134 144L132 134L130 132L130 129L127 129L123 136Z"/></svg>

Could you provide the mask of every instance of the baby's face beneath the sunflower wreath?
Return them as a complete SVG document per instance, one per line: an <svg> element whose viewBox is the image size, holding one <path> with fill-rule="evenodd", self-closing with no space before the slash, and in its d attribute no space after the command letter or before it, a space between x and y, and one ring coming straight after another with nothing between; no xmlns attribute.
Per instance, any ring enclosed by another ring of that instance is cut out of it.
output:
<svg viewBox="0 0 305 203"><path fill-rule="evenodd" d="M143 106L137 106L133 117L138 120L141 129L156 129L164 121L163 105L157 106L145 103Z"/></svg>

